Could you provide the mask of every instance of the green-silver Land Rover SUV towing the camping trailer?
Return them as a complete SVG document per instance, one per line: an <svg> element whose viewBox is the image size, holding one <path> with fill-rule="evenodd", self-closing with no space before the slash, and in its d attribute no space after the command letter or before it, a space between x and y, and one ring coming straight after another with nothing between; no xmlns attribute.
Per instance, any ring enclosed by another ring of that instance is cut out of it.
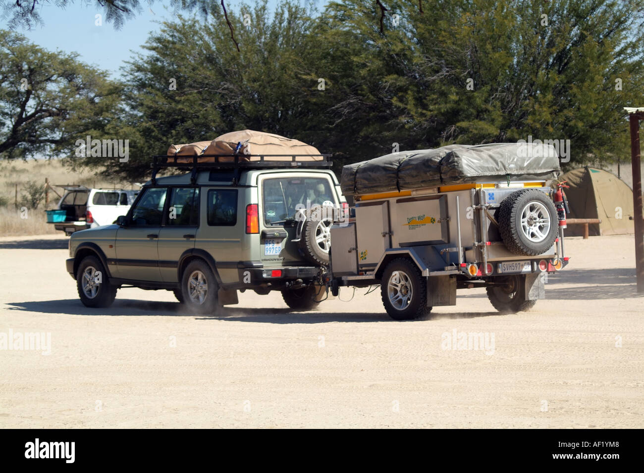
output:
<svg viewBox="0 0 644 473"><path fill-rule="evenodd" d="M330 227L348 214L326 157L211 164L195 158L185 165L157 158L152 180L117 225L72 234L66 265L83 304L109 306L126 286L171 290L198 313L238 303L238 290L281 291L294 310L326 297ZM169 166L191 172L155 178Z"/></svg>

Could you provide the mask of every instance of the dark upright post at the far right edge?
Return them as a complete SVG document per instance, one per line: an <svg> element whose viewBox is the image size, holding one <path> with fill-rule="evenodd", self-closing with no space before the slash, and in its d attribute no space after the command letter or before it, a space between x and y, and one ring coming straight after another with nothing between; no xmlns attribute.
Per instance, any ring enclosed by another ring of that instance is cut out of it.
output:
<svg viewBox="0 0 644 473"><path fill-rule="evenodd" d="M642 176L639 154L639 113L629 115L630 161L633 172L633 215L635 216L635 274L638 293L644 293L644 225L642 221Z"/></svg>

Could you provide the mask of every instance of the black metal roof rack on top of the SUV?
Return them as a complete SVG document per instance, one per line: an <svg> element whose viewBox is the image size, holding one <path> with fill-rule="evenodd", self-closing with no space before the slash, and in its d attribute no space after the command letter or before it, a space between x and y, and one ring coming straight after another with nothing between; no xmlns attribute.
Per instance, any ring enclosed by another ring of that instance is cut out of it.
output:
<svg viewBox="0 0 644 473"><path fill-rule="evenodd" d="M321 156L321 161L298 161L297 158L301 156ZM152 184L156 184L156 173L165 167L178 167L190 169L192 175L190 177L191 183L196 182L197 171L206 171L213 169L232 169L235 172L235 180L238 181L240 171L242 169L274 169L274 168L330 168L333 162L329 159L330 154L199 154L195 156L152 156ZM177 158L192 158L191 163L178 163ZM199 162L202 158L214 158L213 163ZM221 158L233 158L232 162L221 162ZM243 161L240 161L240 158ZM247 161L248 158L260 158L256 161ZM265 158L284 158L279 161L268 161ZM288 158L288 159L287 159Z"/></svg>

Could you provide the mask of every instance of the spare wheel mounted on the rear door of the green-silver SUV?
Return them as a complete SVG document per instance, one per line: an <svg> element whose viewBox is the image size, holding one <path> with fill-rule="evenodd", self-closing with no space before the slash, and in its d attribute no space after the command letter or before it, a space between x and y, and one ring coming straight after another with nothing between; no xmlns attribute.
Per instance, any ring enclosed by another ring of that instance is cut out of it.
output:
<svg viewBox="0 0 644 473"><path fill-rule="evenodd" d="M316 205L306 214L299 238L302 254L313 264L328 266L333 207Z"/></svg>

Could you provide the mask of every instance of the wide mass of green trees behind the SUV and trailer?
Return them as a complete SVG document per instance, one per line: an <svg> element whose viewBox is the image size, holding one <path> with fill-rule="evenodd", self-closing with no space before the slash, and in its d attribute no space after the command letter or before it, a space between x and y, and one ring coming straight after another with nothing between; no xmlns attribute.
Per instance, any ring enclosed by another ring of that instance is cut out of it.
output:
<svg viewBox="0 0 644 473"><path fill-rule="evenodd" d="M243 128L333 153L336 171L394 144L529 136L571 140L570 165L629 156L622 107L644 105L643 0L424 0L422 14L415 1L382 3L383 32L375 1L319 15L291 1L274 15L265 1L229 7L234 41L217 2L191 4L207 18L152 33L126 68L117 112L104 107L92 125L129 139L129 162L75 163L142 179L170 144Z"/></svg>

